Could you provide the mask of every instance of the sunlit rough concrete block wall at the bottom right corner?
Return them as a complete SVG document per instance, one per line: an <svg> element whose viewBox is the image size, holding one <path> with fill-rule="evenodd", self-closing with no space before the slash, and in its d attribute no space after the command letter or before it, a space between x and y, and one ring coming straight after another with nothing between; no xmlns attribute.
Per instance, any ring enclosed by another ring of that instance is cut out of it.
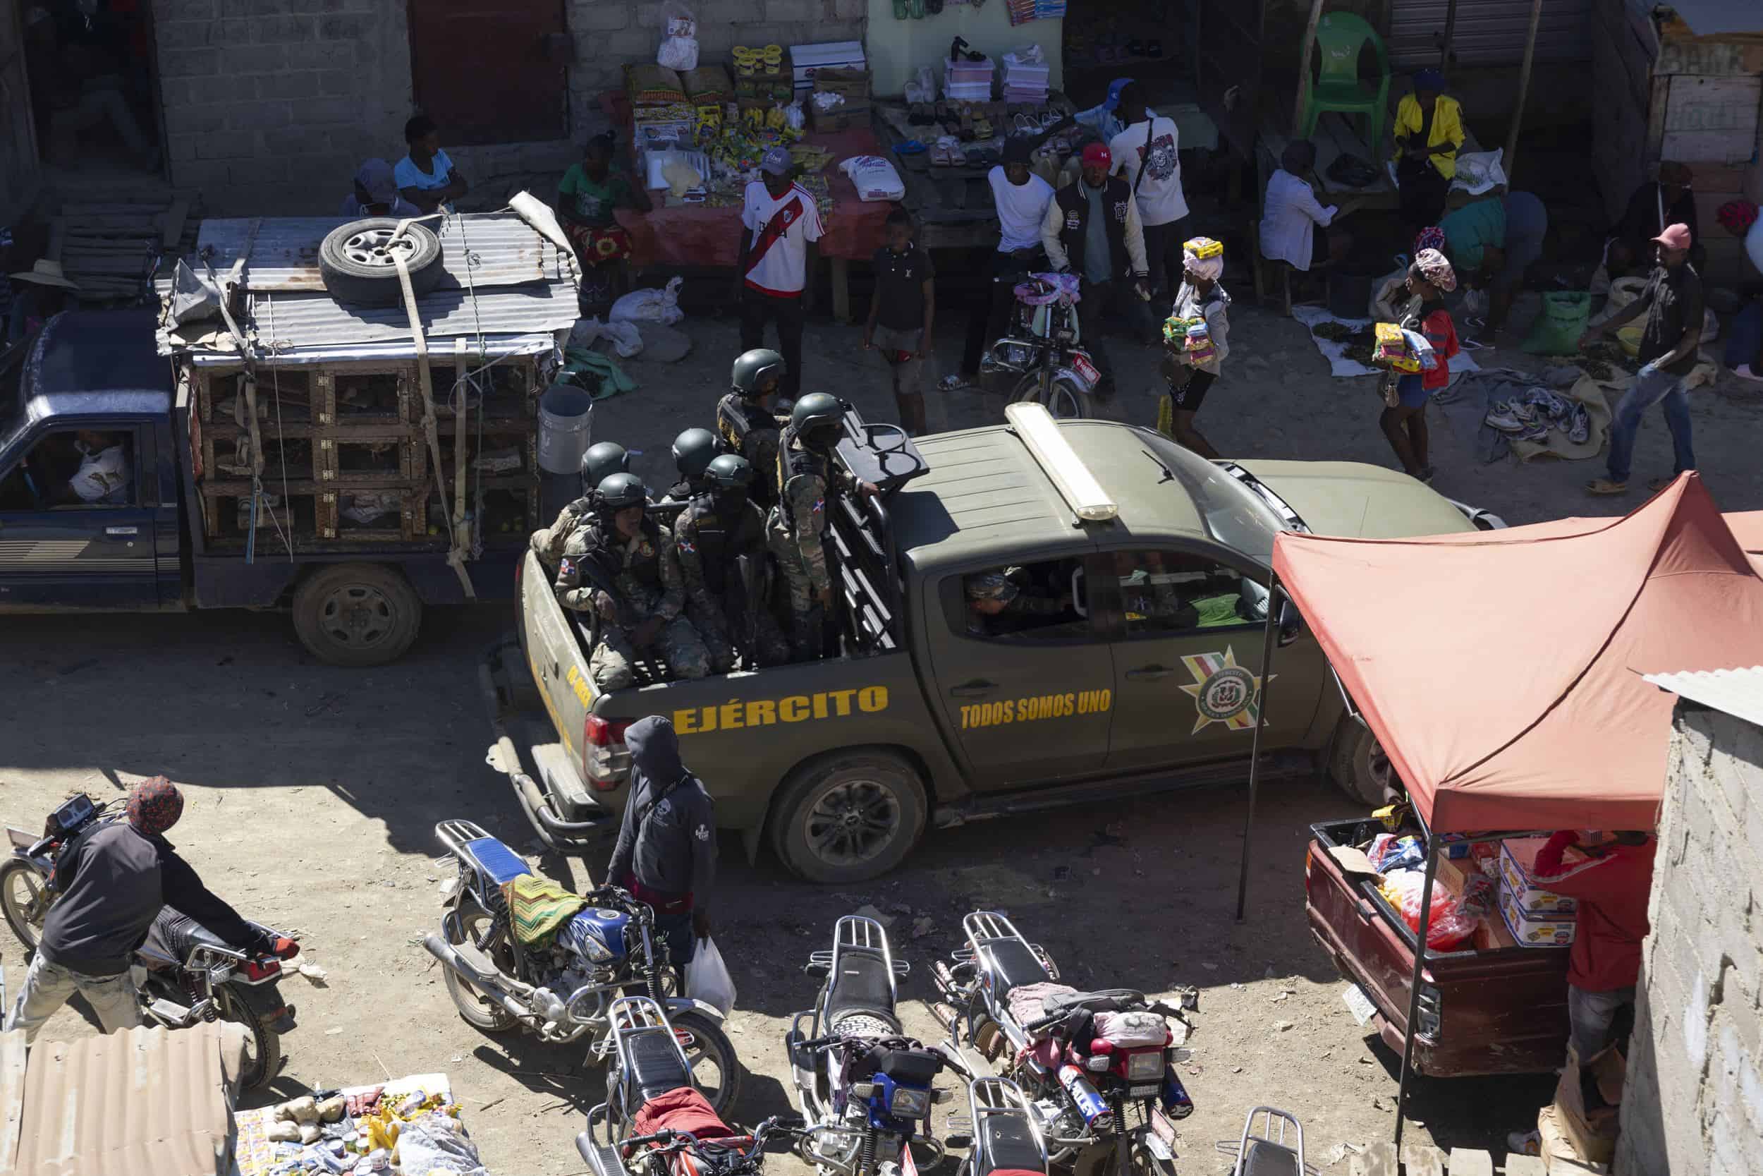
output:
<svg viewBox="0 0 1763 1176"><path fill-rule="evenodd" d="M1763 730L1678 707L1617 1176L1763 1157Z"/></svg>

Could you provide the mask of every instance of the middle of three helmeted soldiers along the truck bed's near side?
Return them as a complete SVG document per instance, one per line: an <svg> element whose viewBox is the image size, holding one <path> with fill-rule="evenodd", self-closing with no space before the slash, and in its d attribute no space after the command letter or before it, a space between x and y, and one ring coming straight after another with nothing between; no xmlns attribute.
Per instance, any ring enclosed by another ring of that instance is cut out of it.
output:
<svg viewBox="0 0 1763 1176"><path fill-rule="evenodd" d="M703 494L673 520L673 547L686 577L686 614L710 651L710 672L733 670L737 651L749 670L783 665L790 661L790 642L777 628L763 584L740 584L735 562L742 555L756 566L765 561L765 511L748 495L753 465L739 453L723 453L703 471Z"/></svg>

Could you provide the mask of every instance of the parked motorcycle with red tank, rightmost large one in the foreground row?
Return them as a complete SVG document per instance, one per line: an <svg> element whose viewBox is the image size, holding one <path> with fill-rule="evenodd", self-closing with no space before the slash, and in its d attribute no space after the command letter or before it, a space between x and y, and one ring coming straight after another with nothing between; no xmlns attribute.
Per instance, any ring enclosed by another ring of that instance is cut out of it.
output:
<svg viewBox="0 0 1763 1176"><path fill-rule="evenodd" d="M1174 1068L1181 1010L1134 989L1079 993L1060 984L1045 949L1005 915L961 920L966 947L938 961L936 1016L1014 1081L1049 1162L1109 1176L1172 1176L1172 1120L1194 1113Z"/></svg>

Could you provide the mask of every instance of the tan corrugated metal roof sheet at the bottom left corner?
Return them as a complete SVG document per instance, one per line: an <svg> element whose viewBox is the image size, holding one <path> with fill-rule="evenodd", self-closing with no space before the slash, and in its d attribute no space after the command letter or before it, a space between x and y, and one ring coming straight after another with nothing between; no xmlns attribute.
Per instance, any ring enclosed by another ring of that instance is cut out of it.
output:
<svg viewBox="0 0 1763 1176"><path fill-rule="evenodd" d="M231 1167L234 1024L37 1042L18 1167L33 1176L220 1176Z"/></svg>

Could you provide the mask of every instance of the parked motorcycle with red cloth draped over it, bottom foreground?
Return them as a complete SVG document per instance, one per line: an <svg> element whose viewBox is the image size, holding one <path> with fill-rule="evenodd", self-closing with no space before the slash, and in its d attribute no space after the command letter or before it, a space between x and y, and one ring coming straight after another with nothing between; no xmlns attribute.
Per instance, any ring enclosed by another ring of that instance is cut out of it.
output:
<svg viewBox="0 0 1763 1176"><path fill-rule="evenodd" d="M693 1084L689 1033L647 996L621 996L606 1017L606 1102L575 1137L594 1176L758 1176L765 1141L799 1130L777 1116L751 1134L725 1123Z"/></svg>

